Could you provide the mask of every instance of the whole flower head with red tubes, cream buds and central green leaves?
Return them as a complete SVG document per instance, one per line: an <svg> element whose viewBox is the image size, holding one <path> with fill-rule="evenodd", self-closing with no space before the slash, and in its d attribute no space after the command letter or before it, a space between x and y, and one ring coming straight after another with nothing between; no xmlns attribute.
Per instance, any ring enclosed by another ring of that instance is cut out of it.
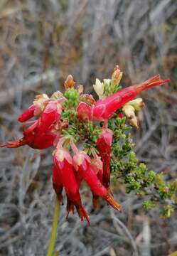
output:
<svg viewBox="0 0 177 256"><path fill-rule="evenodd" d="M93 88L99 100L95 101L92 95L83 92L82 85L75 85L72 75L68 75L64 93L57 91L51 97L38 95L33 105L18 117L18 121L23 123L23 137L1 146L16 148L27 144L34 149L55 146L52 156L53 188L59 201L63 201L65 190L67 218L75 208L80 219L86 219L90 224L80 197L83 180L92 191L93 208L97 208L98 198L103 198L114 209L121 210L109 188L110 170L114 174L121 163L117 124L127 118L129 124L138 127L135 112L144 107L144 102L141 98L134 100L136 95L169 81L156 75L141 84L120 90L121 78L122 72L116 66L111 79L103 82L96 79ZM33 120L29 121L31 118ZM127 144L127 152L130 149ZM134 187L132 176L127 176L125 183L138 189L138 183Z"/></svg>

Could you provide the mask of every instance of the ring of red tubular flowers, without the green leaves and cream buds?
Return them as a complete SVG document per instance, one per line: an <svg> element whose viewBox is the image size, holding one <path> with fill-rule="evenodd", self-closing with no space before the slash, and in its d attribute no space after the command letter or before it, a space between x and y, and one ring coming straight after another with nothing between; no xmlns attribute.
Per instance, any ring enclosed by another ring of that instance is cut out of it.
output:
<svg viewBox="0 0 177 256"><path fill-rule="evenodd" d="M70 138L70 143L65 146L65 137L62 137L62 129L67 129L70 124L61 118L65 111L63 103L65 97L61 92L54 92L49 98L47 95L38 95L33 105L28 107L18 117L19 122L23 122L23 138L17 141L6 142L1 147L16 148L28 144L34 149L46 149L55 146L53 151L53 188L62 201L63 188L67 196L67 217L70 211L77 210L80 219L84 218L90 223L88 215L82 206L80 198L80 183L85 180L90 186L93 195L93 207L97 207L97 199L104 198L107 203L116 210L121 210L109 189L110 183L110 151L112 147L112 131L107 128L107 119L119 108L142 90L147 90L156 85L162 85L168 80L161 80L159 75L146 80L139 85L133 85L119 90L108 97L103 97L97 102L91 100L91 104L80 100L75 107L75 112L79 122L92 122L94 120L104 121L100 136L95 144L95 149L91 149L91 156L85 151L77 148L74 139ZM75 82L70 75L65 82L65 88L69 90ZM78 87L80 99L83 98L82 90ZM89 97L88 97L89 98ZM90 99L92 97L90 96ZM38 117L33 121L28 121L32 117ZM97 152L98 154L97 154Z"/></svg>

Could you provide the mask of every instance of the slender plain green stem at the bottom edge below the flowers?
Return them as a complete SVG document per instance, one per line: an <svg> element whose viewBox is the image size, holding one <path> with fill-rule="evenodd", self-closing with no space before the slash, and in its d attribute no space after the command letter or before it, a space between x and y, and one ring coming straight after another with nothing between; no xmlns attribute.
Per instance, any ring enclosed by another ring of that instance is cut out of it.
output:
<svg viewBox="0 0 177 256"><path fill-rule="evenodd" d="M52 225L52 229L51 229L51 233L50 233L50 242L48 244L48 252L47 252L46 256L53 256L59 214L60 214L60 202L58 201L58 198L55 198L55 208L54 208L54 213L53 213L53 225Z"/></svg>

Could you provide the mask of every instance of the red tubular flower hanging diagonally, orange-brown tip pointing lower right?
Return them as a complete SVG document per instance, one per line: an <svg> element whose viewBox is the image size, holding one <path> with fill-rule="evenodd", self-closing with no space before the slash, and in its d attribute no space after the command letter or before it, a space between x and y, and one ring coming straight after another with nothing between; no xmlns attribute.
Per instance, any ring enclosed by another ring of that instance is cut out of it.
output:
<svg viewBox="0 0 177 256"><path fill-rule="evenodd" d="M116 210L121 210L121 206L114 201L109 190L105 188L99 178L97 178L97 174L95 174L94 169L92 168L91 159L84 151L79 151L75 144L71 142L71 146L75 155L73 156L73 162L76 171L80 174L80 176L87 182L88 186L90 186L92 192L104 198L110 206L112 206Z"/></svg>

